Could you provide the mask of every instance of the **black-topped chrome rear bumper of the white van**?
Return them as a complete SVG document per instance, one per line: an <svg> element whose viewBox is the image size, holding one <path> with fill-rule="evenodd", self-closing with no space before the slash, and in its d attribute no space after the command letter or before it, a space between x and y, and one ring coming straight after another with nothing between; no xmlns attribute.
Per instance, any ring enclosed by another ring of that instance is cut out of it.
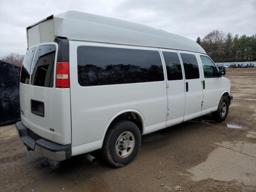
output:
<svg viewBox="0 0 256 192"><path fill-rule="evenodd" d="M20 139L32 151L54 161L63 161L70 158L70 145L61 145L38 136L29 130L22 121L16 122L15 126Z"/></svg>

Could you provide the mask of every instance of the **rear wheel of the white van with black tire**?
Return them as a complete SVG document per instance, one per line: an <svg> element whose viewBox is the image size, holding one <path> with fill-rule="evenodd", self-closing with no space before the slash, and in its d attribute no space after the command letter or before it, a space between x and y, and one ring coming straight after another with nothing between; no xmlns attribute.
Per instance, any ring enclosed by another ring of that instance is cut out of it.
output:
<svg viewBox="0 0 256 192"><path fill-rule="evenodd" d="M106 133L102 156L114 167L125 166L137 156L140 143L141 134L136 124L128 120L117 122Z"/></svg>

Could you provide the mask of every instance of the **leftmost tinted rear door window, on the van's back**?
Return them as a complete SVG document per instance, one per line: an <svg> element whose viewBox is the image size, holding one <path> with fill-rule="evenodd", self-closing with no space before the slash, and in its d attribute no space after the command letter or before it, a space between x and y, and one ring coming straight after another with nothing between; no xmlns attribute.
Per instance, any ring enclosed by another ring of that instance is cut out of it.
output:
<svg viewBox="0 0 256 192"><path fill-rule="evenodd" d="M29 78L30 78L30 69L31 69L31 64L32 60L35 54L36 47L31 48L27 50L23 63L22 63L22 70L20 74L20 82L29 84Z"/></svg>

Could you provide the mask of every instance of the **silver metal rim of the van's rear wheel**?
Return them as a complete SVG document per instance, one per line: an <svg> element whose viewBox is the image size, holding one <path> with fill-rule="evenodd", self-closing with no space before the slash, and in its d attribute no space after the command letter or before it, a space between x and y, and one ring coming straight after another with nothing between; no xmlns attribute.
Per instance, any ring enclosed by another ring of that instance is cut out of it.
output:
<svg viewBox="0 0 256 192"><path fill-rule="evenodd" d="M125 131L120 134L116 140L116 154L120 158L128 157L135 146L135 137L134 134L130 131Z"/></svg>

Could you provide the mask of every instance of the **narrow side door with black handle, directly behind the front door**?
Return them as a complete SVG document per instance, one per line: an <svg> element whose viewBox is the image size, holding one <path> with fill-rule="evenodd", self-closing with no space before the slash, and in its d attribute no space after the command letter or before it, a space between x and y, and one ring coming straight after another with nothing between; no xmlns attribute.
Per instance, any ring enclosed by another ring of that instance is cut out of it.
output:
<svg viewBox="0 0 256 192"><path fill-rule="evenodd" d="M201 116L203 102L202 74L197 54L178 51L184 67L186 105L184 121Z"/></svg>

